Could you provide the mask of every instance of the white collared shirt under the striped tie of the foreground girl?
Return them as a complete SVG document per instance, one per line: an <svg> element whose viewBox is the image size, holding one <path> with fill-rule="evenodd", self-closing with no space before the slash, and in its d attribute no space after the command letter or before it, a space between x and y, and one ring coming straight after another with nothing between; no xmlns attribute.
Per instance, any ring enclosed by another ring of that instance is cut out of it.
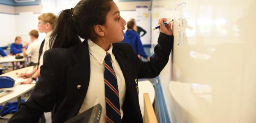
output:
<svg viewBox="0 0 256 123"><path fill-rule="evenodd" d="M104 71L105 71L105 56L106 51L88 39L88 47L90 54L90 83L84 98L84 102L78 114L90 109L96 104L100 103L102 106L102 115L99 123L106 123L106 102L105 102L105 84L104 84ZM119 103L121 110L121 117L123 117L122 105L125 100L125 78L122 70L112 53L113 46L111 44L107 51L111 55L111 62L113 69L116 73L117 85L119 90Z"/></svg>

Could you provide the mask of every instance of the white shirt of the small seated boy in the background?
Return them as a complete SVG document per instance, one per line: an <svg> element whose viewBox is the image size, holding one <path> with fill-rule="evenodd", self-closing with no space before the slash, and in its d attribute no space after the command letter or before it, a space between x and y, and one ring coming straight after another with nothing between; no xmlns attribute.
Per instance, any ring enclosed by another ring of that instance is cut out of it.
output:
<svg viewBox="0 0 256 123"><path fill-rule="evenodd" d="M29 44L28 49L26 50L27 55L31 55L31 62L38 63L39 49L41 43L38 39L35 39L34 42Z"/></svg>

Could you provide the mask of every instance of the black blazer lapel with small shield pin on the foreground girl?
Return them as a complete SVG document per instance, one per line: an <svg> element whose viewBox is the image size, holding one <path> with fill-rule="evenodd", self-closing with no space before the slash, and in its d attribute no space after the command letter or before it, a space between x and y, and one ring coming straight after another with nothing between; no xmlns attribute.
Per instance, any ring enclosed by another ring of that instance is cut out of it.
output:
<svg viewBox="0 0 256 123"><path fill-rule="evenodd" d="M67 108L70 108L67 119L77 115L89 86L90 56L86 40L79 45L73 58L77 64L67 70Z"/></svg>

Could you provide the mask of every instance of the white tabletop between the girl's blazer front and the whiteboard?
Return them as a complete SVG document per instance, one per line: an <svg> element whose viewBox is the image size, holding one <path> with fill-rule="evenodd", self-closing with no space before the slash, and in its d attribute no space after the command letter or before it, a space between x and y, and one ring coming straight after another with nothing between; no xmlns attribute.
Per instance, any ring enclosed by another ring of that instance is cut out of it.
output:
<svg viewBox="0 0 256 123"><path fill-rule="evenodd" d="M150 81L139 81L139 103L141 115L144 116L144 98L143 93L148 93L151 103L153 104L155 98L155 90L153 84Z"/></svg>

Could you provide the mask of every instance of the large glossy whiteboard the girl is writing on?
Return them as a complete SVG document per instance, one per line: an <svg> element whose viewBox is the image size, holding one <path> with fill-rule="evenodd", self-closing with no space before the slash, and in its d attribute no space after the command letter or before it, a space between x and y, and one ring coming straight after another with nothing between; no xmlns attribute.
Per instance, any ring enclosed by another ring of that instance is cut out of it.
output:
<svg viewBox="0 0 256 123"><path fill-rule="evenodd" d="M256 0L153 0L152 11L159 6L176 20L173 62L160 75L172 123L256 123Z"/></svg>

